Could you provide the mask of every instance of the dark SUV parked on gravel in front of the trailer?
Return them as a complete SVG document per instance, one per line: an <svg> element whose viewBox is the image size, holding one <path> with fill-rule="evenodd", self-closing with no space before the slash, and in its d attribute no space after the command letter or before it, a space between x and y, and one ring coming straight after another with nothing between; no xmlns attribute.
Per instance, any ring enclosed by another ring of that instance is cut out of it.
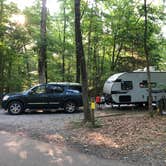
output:
<svg viewBox="0 0 166 166"><path fill-rule="evenodd" d="M78 83L40 84L22 93L6 94L2 99L2 108L12 115L18 115L25 109L64 108L73 113L82 106L81 85Z"/></svg>

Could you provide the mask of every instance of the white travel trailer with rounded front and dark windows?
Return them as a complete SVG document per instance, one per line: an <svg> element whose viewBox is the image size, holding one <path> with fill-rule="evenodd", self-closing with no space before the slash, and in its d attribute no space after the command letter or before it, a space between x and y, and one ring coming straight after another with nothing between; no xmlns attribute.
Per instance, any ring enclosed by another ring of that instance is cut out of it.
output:
<svg viewBox="0 0 166 166"><path fill-rule="evenodd" d="M166 72L151 71L153 102L166 97ZM146 70L117 73L107 79L103 93L107 103L146 104L148 101L148 81Z"/></svg>

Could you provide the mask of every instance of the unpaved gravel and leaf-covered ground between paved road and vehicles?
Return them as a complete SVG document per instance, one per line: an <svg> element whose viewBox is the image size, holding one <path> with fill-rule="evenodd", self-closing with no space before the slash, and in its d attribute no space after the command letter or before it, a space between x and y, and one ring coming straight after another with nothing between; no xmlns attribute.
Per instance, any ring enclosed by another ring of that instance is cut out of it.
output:
<svg viewBox="0 0 166 166"><path fill-rule="evenodd" d="M100 127L92 129L80 125L82 113L11 116L1 112L0 130L135 166L166 165L165 116L150 118L147 112L130 109L96 111L97 116Z"/></svg>

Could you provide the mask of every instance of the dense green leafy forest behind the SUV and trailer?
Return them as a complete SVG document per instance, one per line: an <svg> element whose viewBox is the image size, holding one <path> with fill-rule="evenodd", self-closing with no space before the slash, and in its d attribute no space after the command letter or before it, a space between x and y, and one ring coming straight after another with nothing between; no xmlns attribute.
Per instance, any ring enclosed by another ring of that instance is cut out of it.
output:
<svg viewBox="0 0 166 166"><path fill-rule="evenodd" d="M47 81L79 82L74 1L59 0L59 4L59 12L46 11ZM41 11L41 0L23 10L0 0L0 93L39 83ZM149 63L158 70L166 69L164 12L164 4L147 4ZM146 67L144 6L140 0L82 0L81 31L91 93L101 90L113 73Z"/></svg>

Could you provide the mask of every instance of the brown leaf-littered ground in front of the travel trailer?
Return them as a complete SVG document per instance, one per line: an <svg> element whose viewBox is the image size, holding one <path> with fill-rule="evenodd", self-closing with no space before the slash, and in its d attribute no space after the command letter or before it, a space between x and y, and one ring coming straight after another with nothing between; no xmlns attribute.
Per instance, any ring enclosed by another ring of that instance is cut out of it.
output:
<svg viewBox="0 0 166 166"><path fill-rule="evenodd" d="M138 110L100 110L96 128L72 122L67 142L87 154L132 165L166 165L166 116L151 118Z"/></svg>

